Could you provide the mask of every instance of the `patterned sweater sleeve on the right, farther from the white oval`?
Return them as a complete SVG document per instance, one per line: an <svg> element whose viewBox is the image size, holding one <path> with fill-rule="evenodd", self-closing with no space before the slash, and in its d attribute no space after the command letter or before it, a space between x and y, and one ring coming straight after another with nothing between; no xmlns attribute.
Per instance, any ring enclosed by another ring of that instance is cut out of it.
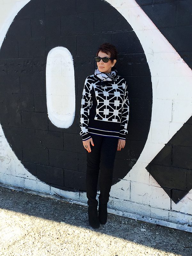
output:
<svg viewBox="0 0 192 256"><path fill-rule="evenodd" d="M129 120L129 99L128 99L127 83L125 82L125 94L124 94L124 101L123 101L123 108L122 108L119 139L125 140L126 138L126 134L128 132L127 130L128 120Z"/></svg>

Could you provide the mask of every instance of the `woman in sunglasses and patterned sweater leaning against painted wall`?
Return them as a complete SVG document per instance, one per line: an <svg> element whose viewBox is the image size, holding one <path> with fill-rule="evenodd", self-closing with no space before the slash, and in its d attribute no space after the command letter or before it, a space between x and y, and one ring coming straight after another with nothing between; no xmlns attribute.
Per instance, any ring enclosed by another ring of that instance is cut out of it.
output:
<svg viewBox="0 0 192 256"><path fill-rule="evenodd" d="M97 51L97 68L84 83L80 135L87 153L86 189L89 224L99 228L107 221L116 149L125 146L129 119L127 84L114 65L117 50L105 43ZM100 170L99 216L97 182Z"/></svg>

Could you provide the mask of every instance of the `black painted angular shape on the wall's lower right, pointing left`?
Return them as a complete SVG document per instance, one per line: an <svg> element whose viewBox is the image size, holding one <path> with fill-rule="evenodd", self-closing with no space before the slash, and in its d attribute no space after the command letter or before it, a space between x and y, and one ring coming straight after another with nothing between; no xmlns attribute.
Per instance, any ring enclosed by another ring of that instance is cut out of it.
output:
<svg viewBox="0 0 192 256"><path fill-rule="evenodd" d="M178 203L192 189L192 117L146 167Z"/></svg>

